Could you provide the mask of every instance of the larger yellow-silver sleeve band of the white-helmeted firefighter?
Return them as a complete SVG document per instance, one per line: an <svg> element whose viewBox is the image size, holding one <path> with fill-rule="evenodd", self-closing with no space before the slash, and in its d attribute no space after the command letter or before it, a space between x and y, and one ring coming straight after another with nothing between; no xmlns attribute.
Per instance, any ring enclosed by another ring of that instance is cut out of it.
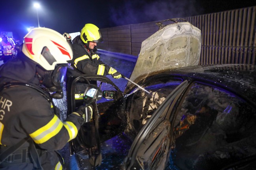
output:
<svg viewBox="0 0 256 170"><path fill-rule="evenodd" d="M53 119L49 121L45 126L29 134L36 144L42 144L57 135L60 129L63 127L62 121L54 115Z"/></svg>

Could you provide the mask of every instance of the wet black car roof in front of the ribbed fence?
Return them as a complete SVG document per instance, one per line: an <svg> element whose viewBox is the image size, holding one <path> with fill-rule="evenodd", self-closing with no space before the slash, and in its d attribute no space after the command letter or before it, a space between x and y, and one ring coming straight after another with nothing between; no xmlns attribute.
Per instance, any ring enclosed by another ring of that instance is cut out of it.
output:
<svg viewBox="0 0 256 170"><path fill-rule="evenodd" d="M169 71L169 74L216 85L248 99L256 106L256 65L197 65L178 68Z"/></svg>

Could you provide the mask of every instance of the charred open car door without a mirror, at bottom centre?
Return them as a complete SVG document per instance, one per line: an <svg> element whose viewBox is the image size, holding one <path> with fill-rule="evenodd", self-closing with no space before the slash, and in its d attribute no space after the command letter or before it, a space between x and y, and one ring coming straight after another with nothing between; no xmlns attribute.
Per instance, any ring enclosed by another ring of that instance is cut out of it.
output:
<svg viewBox="0 0 256 170"><path fill-rule="evenodd" d="M165 100L159 107L155 108L151 119L145 125L141 125L141 130L137 133L128 156L124 160L125 169L164 169L166 166L171 141L171 124L168 117L171 115L171 108L183 93L188 81L182 82L179 86L177 80L173 84L170 82L166 82L171 88L169 88L167 96L165 95ZM177 87L176 90L174 90L174 86ZM161 86L159 86L159 89L161 89ZM147 90L149 89L147 88ZM156 88L151 90L156 90ZM134 112L131 110L130 121L134 119L131 116L133 114Z"/></svg>

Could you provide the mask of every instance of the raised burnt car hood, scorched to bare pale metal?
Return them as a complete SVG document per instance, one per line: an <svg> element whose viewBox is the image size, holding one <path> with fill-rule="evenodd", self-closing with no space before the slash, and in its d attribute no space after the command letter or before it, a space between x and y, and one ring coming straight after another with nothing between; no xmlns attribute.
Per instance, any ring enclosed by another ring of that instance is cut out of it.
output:
<svg viewBox="0 0 256 170"><path fill-rule="evenodd" d="M139 57L130 77L133 82L179 67L198 65L201 54L201 30L189 22L163 25L141 44ZM130 92L134 84L128 82L124 93Z"/></svg>

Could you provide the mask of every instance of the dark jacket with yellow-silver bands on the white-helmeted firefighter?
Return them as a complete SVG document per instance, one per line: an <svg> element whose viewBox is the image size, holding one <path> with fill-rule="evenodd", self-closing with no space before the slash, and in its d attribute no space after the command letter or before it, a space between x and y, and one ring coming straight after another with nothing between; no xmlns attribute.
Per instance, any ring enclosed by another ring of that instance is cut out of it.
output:
<svg viewBox="0 0 256 170"><path fill-rule="evenodd" d="M39 87L36 64L21 56L0 66L0 85L23 82ZM70 114L62 122L53 113L51 103L38 91L24 86L6 88L0 92L0 154L26 137L32 138L38 150L41 166L45 170L62 169L62 158L56 153L75 138L83 118ZM22 148L26 149L26 142ZM21 149L22 149L21 148ZM20 149L19 149L20 150ZM24 156L24 155L23 155ZM3 162L0 169L33 169L29 153L23 163ZM12 160L13 161L13 160Z"/></svg>

